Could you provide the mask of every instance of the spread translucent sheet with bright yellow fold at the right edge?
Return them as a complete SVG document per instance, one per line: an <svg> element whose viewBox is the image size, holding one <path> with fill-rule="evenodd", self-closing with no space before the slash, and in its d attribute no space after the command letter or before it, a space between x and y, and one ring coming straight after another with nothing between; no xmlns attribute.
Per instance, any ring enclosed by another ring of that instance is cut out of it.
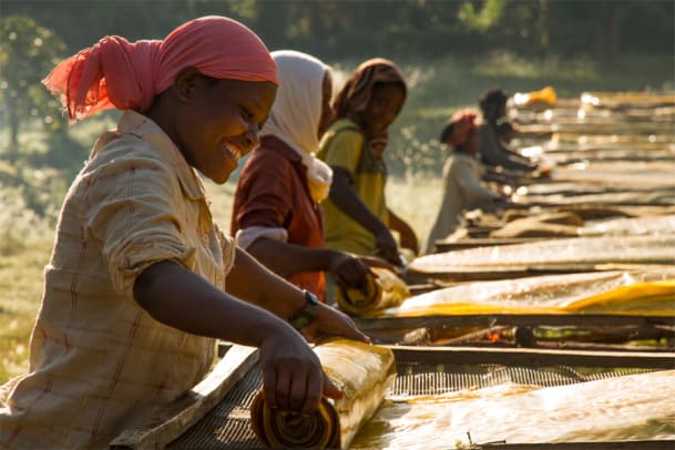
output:
<svg viewBox="0 0 675 450"><path fill-rule="evenodd" d="M412 297L378 316L584 313L675 315L673 273L604 272L477 282Z"/></svg>

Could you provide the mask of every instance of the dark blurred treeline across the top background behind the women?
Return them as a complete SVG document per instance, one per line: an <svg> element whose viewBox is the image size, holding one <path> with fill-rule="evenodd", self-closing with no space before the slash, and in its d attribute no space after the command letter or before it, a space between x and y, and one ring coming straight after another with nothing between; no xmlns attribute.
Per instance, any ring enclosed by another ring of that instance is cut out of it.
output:
<svg viewBox="0 0 675 450"><path fill-rule="evenodd" d="M55 30L71 52L104 34L161 39L205 14L243 21L272 50L294 48L324 59L510 50L529 59L614 62L626 53L675 50L671 0L61 0L59 8L52 0L3 0L3 7Z"/></svg>

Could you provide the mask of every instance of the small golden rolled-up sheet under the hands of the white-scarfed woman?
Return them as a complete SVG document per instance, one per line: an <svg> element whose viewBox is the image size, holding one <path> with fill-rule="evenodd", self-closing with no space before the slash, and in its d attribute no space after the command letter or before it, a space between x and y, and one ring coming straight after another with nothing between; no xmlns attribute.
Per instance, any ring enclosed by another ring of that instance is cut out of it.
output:
<svg viewBox="0 0 675 450"><path fill-rule="evenodd" d="M368 292L358 289L337 289L338 307L352 316L362 316L374 311L400 305L410 297L410 290L401 278L385 268L371 268L377 277L368 277Z"/></svg>

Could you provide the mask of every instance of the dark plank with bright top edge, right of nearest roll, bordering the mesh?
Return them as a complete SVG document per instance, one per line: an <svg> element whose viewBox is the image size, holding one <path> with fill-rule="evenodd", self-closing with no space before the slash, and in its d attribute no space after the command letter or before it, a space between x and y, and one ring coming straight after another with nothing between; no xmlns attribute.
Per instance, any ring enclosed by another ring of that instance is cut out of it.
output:
<svg viewBox="0 0 675 450"><path fill-rule="evenodd" d="M621 367L675 369L675 352L583 351L532 348L386 346L398 364L548 367Z"/></svg>

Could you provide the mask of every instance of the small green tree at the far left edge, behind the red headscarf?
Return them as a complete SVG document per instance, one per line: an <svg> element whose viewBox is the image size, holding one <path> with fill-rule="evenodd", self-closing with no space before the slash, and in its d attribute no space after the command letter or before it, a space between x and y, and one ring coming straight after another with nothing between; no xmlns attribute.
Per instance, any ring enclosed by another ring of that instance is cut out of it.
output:
<svg viewBox="0 0 675 450"><path fill-rule="evenodd" d="M65 43L28 17L0 18L0 102L9 125L7 157L19 155L19 133L27 119L41 120L52 131L63 129L55 99L41 80L59 62Z"/></svg>

